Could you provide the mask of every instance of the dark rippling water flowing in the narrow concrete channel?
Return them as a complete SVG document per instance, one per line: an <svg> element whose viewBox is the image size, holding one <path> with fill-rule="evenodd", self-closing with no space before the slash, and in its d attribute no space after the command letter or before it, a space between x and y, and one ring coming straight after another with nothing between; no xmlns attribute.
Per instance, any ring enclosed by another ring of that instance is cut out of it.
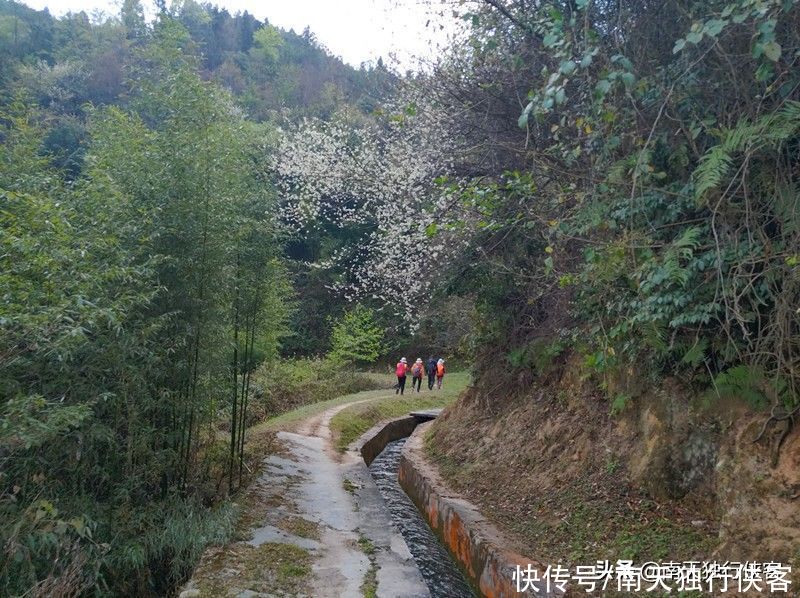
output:
<svg viewBox="0 0 800 598"><path fill-rule="evenodd" d="M392 521L403 534L431 596L472 598L475 593L467 580L397 481L400 451L405 442L403 438L386 445L369 466L372 477L389 507Z"/></svg>

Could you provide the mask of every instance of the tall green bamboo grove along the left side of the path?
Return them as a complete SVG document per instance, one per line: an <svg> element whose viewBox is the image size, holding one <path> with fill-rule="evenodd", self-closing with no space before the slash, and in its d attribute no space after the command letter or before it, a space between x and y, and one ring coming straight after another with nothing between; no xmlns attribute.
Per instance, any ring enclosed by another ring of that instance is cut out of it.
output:
<svg viewBox="0 0 800 598"><path fill-rule="evenodd" d="M44 114L22 96L2 114L3 595L163 593L229 533L288 287L269 130L190 45L164 19L136 46L75 180L40 155Z"/></svg>

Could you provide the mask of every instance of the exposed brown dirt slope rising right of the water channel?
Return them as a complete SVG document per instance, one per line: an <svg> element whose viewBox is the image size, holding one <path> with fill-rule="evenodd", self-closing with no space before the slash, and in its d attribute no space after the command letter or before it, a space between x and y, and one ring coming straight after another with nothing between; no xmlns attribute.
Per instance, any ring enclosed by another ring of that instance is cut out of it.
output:
<svg viewBox="0 0 800 598"><path fill-rule="evenodd" d="M773 468L773 436L752 442L763 415L693 409L668 384L612 417L576 371L567 364L515 398L471 389L426 441L449 483L523 554L572 564L777 560L797 571L798 430Z"/></svg>

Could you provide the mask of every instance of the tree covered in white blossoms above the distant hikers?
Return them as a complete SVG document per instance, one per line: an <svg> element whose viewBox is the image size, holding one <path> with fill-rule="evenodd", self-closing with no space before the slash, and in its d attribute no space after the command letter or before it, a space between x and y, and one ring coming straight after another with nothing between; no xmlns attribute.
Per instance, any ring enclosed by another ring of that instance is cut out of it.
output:
<svg viewBox="0 0 800 598"><path fill-rule="evenodd" d="M355 247L324 264L343 268L348 300L369 297L411 321L467 242L464 215L441 184L458 154L450 122L409 94L371 118L342 111L284 132L273 167L287 226L299 235L321 221L360 231Z"/></svg>

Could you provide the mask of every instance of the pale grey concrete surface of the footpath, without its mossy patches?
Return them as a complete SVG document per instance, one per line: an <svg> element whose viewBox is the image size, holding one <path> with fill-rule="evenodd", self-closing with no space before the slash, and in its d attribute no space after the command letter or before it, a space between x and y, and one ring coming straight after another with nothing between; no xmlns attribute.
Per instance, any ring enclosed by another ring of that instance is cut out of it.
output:
<svg viewBox="0 0 800 598"><path fill-rule="evenodd" d="M257 504L251 505L251 510L259 513L253 518L252 537L245 542L256 548L288 544L309 553L312 579L305 580L308 584L304 591L289 591L289 595L429 596L364 462L356 451L341 455L331 445L331 418L353 404L316 415L296 432L278 432L282 455L265 459L263 472L254 484L255 502L269 506L259 509ZM286 525L286 521L293 525ZM312 533L302 533L309 527ZM225 584L228 595L275 595L269 581L254 584L252 580L237 580L236 572L231 572L235 566L223 569L233 578L227 580L233 583ZM201 577L203 570L201 563L195 577ZM191 592L188 596L206 595L195 593L204 587L202 579L193 578L186 587ZM260 591L253 591L255 587ZM280 595L286 595L286 590L281 588Z"/></svg>

